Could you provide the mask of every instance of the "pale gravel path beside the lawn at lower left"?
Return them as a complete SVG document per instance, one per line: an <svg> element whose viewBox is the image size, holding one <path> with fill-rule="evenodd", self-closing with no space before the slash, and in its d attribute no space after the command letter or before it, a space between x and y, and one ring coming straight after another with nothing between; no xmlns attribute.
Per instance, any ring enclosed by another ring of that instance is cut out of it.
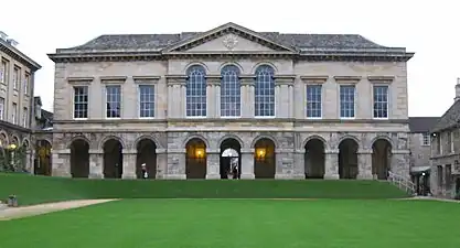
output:
<svg viewBox="0 0 460 248"><path fill-rule="evenodd" d="M94 204L107 203L117 200L77 200L57 203L45 203L32 206L23 207L10 207L7 209L0 209L0 222L10 220L15 218L23 218L34 215L42 215L52 212L72 209L77 207L85 207Z"/></svg>

